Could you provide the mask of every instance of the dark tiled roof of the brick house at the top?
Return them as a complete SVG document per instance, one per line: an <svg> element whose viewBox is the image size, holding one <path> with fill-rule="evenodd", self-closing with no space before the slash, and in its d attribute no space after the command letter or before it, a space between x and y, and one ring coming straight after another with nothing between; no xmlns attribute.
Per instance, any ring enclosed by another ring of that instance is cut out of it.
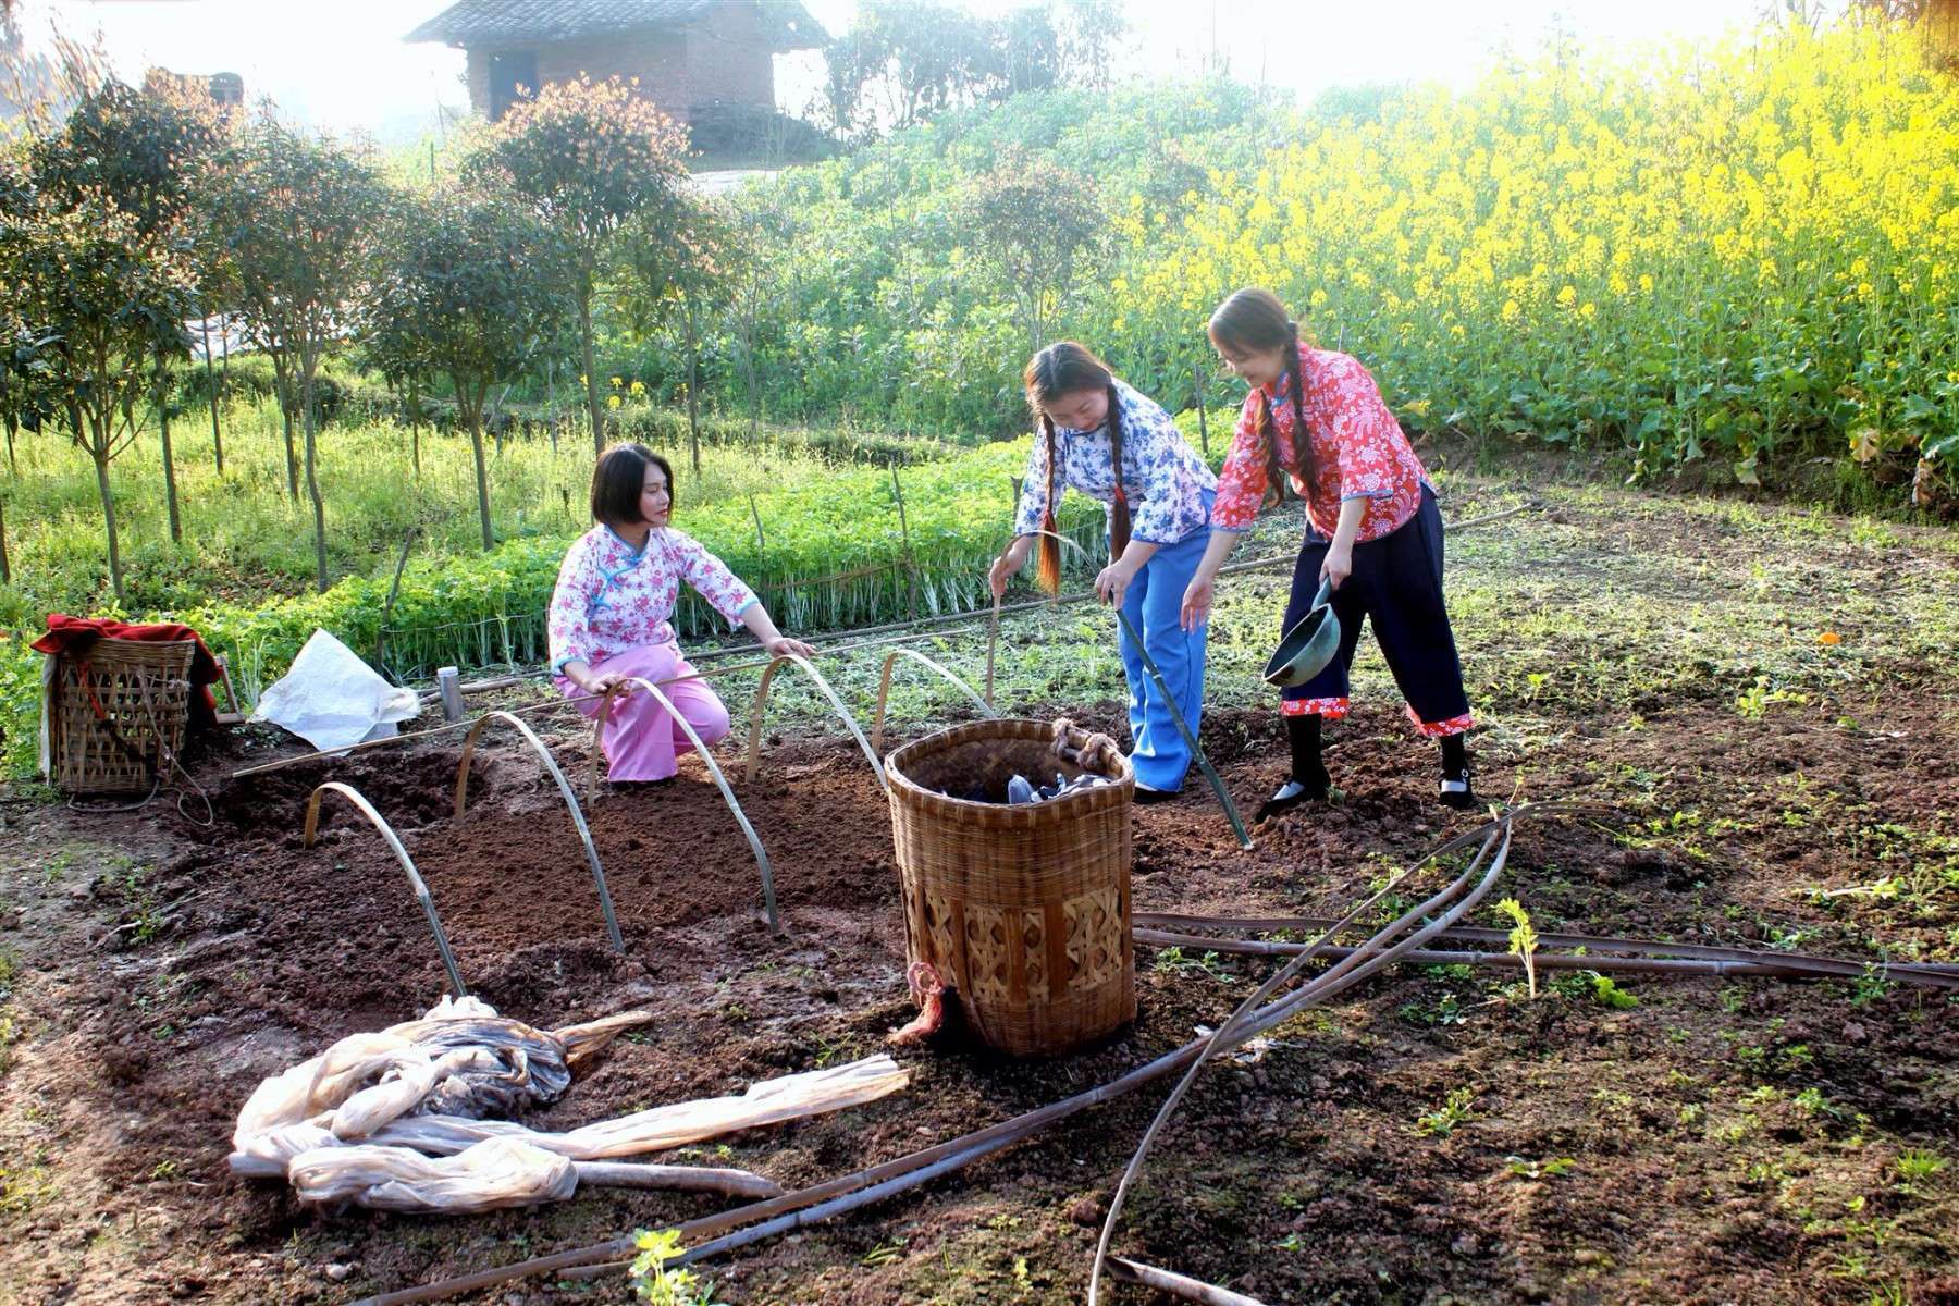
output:
<svg viewBox="0 0 1959 1306"><path fill-rule="evenodd" d="M407 33L409 41L447 45L543 45L578 37L682 27L723 4L742 0L456 0ZM825 43L823 27L801 0L754 0L778 51Z"/></svg>

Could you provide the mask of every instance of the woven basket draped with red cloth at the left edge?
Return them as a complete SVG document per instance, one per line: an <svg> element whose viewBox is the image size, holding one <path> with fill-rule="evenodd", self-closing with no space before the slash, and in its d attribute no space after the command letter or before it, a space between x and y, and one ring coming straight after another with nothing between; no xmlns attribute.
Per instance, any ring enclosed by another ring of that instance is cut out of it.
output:
<svg viewBox="0 0 1959 1306"><path fill-rule="evenodd" d="M100 638L55 660L49 779L67 793L143 793L184 746L196 640Z"/></svg>

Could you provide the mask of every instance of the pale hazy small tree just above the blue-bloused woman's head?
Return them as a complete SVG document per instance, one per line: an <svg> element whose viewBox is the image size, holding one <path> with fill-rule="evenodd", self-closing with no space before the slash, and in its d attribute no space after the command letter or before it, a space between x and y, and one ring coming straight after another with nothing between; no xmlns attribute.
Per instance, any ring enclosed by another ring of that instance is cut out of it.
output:
<svg viewBox="0 0 1959 1306"><path fill-rule="evenodd" d="M1060 302L1103 249L1109 217L1095 182L1044 159L1009 157L966 196L976 253L1013 294L1027 352L1048 343Z"/></svg>

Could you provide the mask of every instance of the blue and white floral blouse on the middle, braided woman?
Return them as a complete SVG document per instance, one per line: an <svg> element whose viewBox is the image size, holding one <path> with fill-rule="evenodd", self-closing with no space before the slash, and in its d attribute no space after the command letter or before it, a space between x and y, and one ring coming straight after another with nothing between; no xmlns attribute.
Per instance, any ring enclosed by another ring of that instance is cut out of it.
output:
<svg viewBox="0 0 1959 1306"><path fill-rule="evenodd" d="M1123 495L1130 509L1130 538L1152 544L1175 544L1205 529L1205 491L1217 490L1218 478L1183 439L1170 413L1154 399L1115 384L1123 411ZM1093 431L1074 427L1054 429L1054 448L1062 458L1060 486L1101 499L1109 511L1115 503L1115 456L1109 446L1109 423ZM1060 505L1056 505L1060 507ZM1034 448L1027 456L1027 480L1021 486L1021 511L1013 533L1040 531L1040 515L1048 511L1048 441L1034 431Z"/></svg>

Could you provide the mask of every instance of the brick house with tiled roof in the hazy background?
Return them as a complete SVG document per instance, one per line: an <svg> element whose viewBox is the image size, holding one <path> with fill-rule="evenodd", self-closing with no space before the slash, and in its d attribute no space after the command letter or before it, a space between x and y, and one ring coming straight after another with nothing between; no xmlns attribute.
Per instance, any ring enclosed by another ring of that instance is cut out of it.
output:
<svg viewBox="0 0 1959 1306"><path fill-rule="evenodd" d="M458 0L407 39L460 47L470 104L490 121L586 72L639 78L686 123L715 110L774 114L776 55L827 41L799 0Z"/></svg>

